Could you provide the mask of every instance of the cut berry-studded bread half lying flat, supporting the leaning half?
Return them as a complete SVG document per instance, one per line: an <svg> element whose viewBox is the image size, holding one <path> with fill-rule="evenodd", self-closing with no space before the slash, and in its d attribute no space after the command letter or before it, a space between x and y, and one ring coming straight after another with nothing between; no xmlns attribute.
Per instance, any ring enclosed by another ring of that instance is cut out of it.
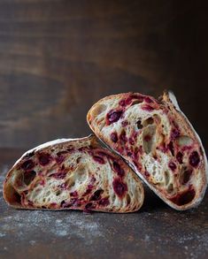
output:
<svg viewBox="0 0 208 259"><path fill-rule="evenodd" d="M94 135L50 141L27 151L4 181L4 199L19 209L132 212L143 185L118 155Z"/></svg>

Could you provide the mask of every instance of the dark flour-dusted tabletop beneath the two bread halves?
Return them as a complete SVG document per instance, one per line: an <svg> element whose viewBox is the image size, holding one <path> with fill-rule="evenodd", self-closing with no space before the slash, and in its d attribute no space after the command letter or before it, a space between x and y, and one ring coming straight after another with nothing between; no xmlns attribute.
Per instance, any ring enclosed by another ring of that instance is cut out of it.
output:
<svg viewBox="0 0 208 259"><path fill-rule="evenodd" d="M0 185L24 150L0 149ZM0 258L207 258L208 195L187 212L146 189L132 214L9 208L0 194Z"/></svg>

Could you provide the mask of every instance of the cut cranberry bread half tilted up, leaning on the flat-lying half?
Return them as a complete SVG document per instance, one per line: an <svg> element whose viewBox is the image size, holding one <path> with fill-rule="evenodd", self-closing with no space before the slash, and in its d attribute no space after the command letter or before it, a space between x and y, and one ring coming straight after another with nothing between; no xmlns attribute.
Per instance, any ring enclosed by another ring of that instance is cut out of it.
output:
<svg viewBox="0 0 208 259"><path fill-rule="evenodd" d="M96 136L173 209L196 207L207 186L207 160L173 93L107 96L89 110Z"/></svg>

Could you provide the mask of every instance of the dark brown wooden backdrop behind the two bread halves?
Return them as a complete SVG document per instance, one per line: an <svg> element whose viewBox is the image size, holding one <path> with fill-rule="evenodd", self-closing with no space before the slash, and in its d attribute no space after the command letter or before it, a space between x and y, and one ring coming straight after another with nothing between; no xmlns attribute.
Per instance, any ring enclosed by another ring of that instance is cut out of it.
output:
<svg viewBox="0 0 208 259"><path fill-rule="evenodd" d="M84 136L99 98L164 88L207 146L207 33L201 1L1 0L0 147Z"/></svg>

